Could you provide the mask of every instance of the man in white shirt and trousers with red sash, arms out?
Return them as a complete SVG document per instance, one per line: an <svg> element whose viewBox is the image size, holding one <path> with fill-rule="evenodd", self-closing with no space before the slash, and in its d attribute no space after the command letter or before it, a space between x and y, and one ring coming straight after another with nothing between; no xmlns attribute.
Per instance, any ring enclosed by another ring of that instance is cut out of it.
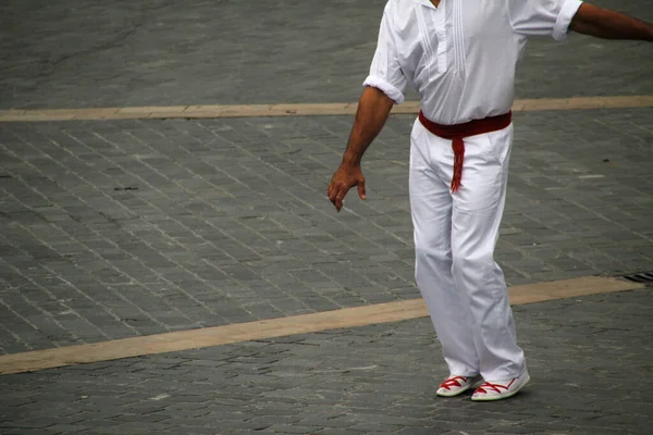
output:
<svg viewBox="0 0 653 435"><path fill-rule="evenodd" d="M422 112L410 135L416 281L451 375L452 397L514 396L530 380L493 252L513 144L515 70L531 35L568 29L653 41L653 26L579 0L390 0L347 149L329 186L337 211L392 105L411 85Z"/></svg>

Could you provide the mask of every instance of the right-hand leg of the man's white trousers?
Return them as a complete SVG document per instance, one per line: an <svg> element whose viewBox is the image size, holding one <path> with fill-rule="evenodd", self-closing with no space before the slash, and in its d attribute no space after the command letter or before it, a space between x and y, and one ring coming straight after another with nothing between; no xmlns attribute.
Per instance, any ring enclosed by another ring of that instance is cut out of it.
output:
<svg viewBox="0 0 653 435"><path fill-rule="evenodd" d="M485 380L513 378L526 370L504 274L494 261L512 141L512 126L468 138L463 186L452 196L453 279L466 295Z"/></svg>

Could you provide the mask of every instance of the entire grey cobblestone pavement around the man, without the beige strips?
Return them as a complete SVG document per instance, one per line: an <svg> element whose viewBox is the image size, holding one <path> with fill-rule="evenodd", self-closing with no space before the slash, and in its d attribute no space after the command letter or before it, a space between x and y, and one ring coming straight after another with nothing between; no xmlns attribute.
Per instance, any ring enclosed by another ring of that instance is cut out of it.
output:
<svg viewBox="0 0 653 435"><path fill-rule="evenodd" d="M354 101L383 3L8 0L0 108ZM650 51L537 40L517 95L651 95ZM419 297L412 121L340 214L349 116L1 124L0 355ZM653 270L652 121L516 115L510 284ZM0 376L0 434L646 434L651 295L517 307L533 382L510 401L436 399L422 319Z"/></svg>

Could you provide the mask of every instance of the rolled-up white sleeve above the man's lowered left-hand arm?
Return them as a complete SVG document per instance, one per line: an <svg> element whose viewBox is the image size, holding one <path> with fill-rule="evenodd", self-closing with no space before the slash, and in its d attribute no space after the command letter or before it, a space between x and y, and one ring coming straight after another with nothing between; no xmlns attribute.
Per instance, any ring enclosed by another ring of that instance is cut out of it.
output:
<svg viewBox="0 0 653 435"><path fill-rule="evenodd" d="M381 20L379 41L370 66L370 75L365 79L362 86L381 89L395 103L401 104L404 102L406 84L406 76L399 65L391 17L386 8Z"/></svg>

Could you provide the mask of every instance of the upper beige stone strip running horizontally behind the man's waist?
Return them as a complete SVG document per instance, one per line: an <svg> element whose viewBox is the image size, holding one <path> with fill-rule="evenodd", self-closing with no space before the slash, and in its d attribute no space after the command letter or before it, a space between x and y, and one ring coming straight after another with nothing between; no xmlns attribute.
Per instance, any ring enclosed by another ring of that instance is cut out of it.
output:
<svg viewBox="0 0 653 435"><path fill-rule="evenodd" d="M516 100L514 112L580 109L651 108L653 96L574 97ZM219 119L254 116L324 116L354 115L357 103L298 103L298 104L241 104L241 105L170 105L104 109L0 110L0 122L42 122L75 120L163 120ZM418 101L407 101L393 109L394 114L416 114Z"/></svg>

